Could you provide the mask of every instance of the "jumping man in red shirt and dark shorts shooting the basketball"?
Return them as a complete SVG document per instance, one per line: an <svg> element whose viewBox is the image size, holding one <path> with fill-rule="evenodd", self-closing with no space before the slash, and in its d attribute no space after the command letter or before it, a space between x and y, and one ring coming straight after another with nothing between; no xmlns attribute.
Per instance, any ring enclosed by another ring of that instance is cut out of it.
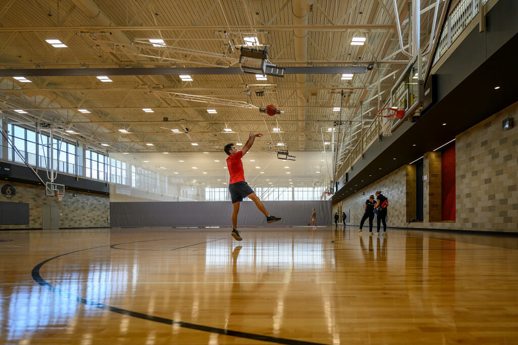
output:
<svg viewBox="0 0 518 345"><path fill-rule="evenodd" d="M230 174L228 190L230 191L232 205L234 206L234 211L232 212L232 237L234 237L237 241L242 240L241 236L239 235L239 231L237 231L237 214L239 213L239 204L245 197L255 202L257 209L259 209L259 211L261 211L266 216L267 223L274 223L281 220L281 218L272 216L268 213L268 211L266 211L265 206L255 195L253 189L250 188L246 181L244 181L243 162L241 162L241 158L248 152L250 147L252 147L255 138L261 136L263 136L263 134L254 134L250 132L247 143L244 144L241 151L238 151L232 143L226 144L224 147L225 153L228 155L227 167L228 173Z"/></svg>

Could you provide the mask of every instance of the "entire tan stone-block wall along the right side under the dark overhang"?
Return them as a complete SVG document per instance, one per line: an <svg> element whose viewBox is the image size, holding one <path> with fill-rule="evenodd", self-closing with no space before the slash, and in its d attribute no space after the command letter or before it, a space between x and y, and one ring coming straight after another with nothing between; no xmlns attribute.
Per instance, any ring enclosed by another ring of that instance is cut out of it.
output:
<svg viewBox="0 0 518 345"><path fill-rule="evenodd" d="M503 131L502 121L508 117L513 118L514 127ZM429 179L428 188L424 191L425 222L408 223L412 217L410 213L414 214L411 207L415 205L415 177L412 178L415 168L412 171L401 167L342 201L342 208L351 210L350 224L359 225L368 195L382 190L390 202L389 227L518 233L517 122L518 102L456 137L455 221L437 220L441 219L440 208L436 205L437 202L439 206L441 204L440 159L437 155L428 155L434 161L432 165L438 165L439 176L436 176L435 168L424 172ZM434 196L427 195L430 190ZM435 195L438 201L435 201ZM427 203L430 206L428 221Z"/></svg>

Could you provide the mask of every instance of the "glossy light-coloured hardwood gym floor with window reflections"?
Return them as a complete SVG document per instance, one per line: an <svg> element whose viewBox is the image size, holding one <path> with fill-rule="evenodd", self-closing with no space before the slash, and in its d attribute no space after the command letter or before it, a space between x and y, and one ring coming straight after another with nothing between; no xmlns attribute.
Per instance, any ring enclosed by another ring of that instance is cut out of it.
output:
<svg viewBox="0 0 518 345"><path fill-rule="evenodd" d="M518 344L518 237L0 231L1 344Z"/></svg>

